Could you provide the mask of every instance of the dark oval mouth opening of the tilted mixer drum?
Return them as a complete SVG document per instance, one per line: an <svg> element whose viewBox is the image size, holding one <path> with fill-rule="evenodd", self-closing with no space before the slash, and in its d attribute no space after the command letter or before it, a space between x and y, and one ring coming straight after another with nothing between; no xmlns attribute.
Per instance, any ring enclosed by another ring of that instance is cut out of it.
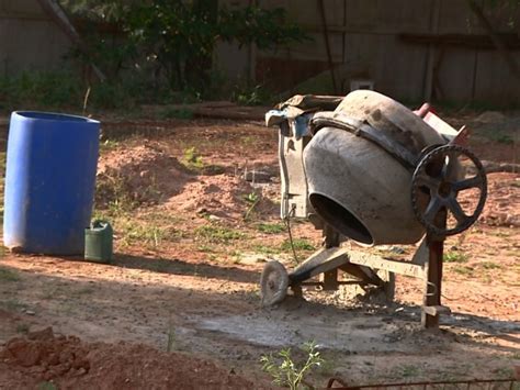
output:
<svg viewBox="0 0 520 390"><path fill-rule="evenodd" d="M339 233L359 243L372 245L374 239L363 223L335 200L312 193L309 201L316 212Z"/></svg>

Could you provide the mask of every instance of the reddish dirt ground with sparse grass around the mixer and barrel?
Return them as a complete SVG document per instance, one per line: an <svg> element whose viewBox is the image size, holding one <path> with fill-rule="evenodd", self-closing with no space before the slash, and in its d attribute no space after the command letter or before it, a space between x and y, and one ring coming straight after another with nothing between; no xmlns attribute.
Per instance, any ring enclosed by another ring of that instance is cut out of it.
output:
<svg viewBox="0 0 520 390"><path fill-rule="evenodd" d="M520 124L502 132L507 116L477 119L451 120L473 121L482 159L518 164ZM326 360L309 378L319 386L332 376L354 385L513 375L520 174L489 174L479 221L448 239L443 303L453 313L431 332L420 326L423 283L408 277L397 277L394 303L344 287L261 308L264 263L294 267L279 219L276 131L222 120L156 127L124 137L104 129L95 216L115 229L112 264L3 254L0 389L262 388L260 357L308 341ZM299 260L320 246L309 223L294 222L292 234ZM414 247L370 250L406 257ZM38 338L47 326L54 334ZM50 364L60 348L68 360Z"/></svg>

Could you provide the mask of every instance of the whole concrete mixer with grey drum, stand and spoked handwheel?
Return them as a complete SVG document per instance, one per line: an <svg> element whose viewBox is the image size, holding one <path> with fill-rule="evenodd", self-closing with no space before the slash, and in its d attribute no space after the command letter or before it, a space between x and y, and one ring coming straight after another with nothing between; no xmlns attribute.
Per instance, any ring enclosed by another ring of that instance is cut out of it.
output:
<svg viewBox="0 0 520 390"><path fill-rule="evenodd" d="M464 146L466 129L454 130L429 104L411 111L371 90L295 96L265 120L280 134L281 216L310 221L324 244L291 272L267 263L262 303L281 302L289 288L302 294L305 286L347 283L376 286L393 299L400 274L425 280L422 323L438 326L450 313L441 304L444 239L477 220L487 196L484 168ZM362 248L396 244L416 245L412 258ZM340 270L353 279L339 280Z"/></svg>

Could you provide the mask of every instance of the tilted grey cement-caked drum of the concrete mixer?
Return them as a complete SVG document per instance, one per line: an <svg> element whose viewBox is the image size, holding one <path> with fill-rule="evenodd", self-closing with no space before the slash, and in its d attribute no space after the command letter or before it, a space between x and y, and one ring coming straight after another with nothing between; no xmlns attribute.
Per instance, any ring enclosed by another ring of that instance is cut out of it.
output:
<svg viewBox="0 0 520 390"><path fill-rule="evenodd" d="M420 116L370 90L349 93L331 118L369 125L410 156L446 143ZM425 235L410 202L414 169L355 130L320 127L304 151L304 166L310 204L344 236L378 245L414 244ZM422 197L418 202L427 204Z"/></svg>

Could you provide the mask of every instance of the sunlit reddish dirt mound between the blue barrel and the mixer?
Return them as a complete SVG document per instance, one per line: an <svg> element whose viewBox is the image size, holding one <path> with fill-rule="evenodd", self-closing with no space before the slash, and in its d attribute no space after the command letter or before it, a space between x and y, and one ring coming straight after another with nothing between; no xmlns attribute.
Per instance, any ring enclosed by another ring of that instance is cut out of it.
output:
<svg viewBox="0 0 520 390"><path fill-rule="evenodd" d="M189 170L155 142L102 156L97 180L99 209L115 202L133 208L165 203L174 210L239 218L257 199L262 199L262 204L255 205L258 210L272 205L244 178Z"/></svg>

